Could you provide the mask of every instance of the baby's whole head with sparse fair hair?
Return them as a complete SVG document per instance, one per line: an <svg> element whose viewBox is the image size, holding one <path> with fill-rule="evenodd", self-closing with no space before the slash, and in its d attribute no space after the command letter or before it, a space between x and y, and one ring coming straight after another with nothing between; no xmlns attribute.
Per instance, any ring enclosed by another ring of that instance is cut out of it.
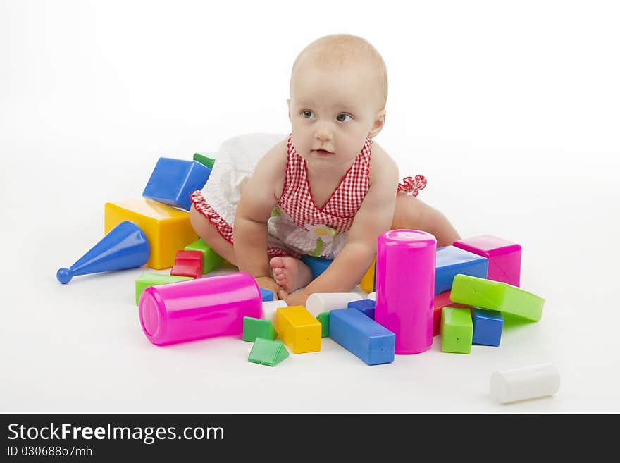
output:
<svg viewBox="0 0 620 463"><path fill-rule="evenodd" d="M287 102L295 149L309 162L349 163L366 137L383 128L386 100L387 70L371 44L345 34L315 40L291 72Z"/></svg>

